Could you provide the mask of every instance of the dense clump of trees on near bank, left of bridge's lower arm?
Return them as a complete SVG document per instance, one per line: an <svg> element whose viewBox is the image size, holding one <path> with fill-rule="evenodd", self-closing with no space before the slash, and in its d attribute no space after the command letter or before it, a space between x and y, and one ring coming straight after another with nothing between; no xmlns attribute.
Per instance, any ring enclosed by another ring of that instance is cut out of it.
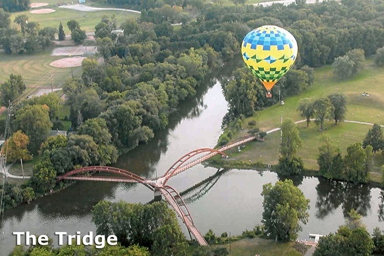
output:
<svg viewBox="0 0 384 256"><path fill-rule="evenodd" d="M118 242L124 246L138 244L148 248L160 248L162 245L159 243L164 242L164 238L159 236L168 231L171 231L166 234L170 239L166 242L169 247L162 249L177 251L177 248L183 248L185 245L185 237L182 236L175 213L164 202L142 205L123 201L100 201L93 207L92 221L98 234L115 234Z"/></svg>

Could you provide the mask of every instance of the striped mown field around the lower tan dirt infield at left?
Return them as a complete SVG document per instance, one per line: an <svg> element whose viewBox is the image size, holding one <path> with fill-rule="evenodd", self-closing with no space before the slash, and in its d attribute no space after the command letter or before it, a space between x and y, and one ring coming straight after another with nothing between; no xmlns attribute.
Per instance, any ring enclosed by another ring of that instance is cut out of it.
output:
<svg viewBox="0 0 384 256"><path fill-rule="evenodd" d="M51 56L52 48L34 54L4 54L0 53L0 83L9 79L10 74L23 76L28 87L61 87L62 83L71 76L71 68L55 68L49 64L63 56ZM77 74L81 67L73 68Z"/></svg>

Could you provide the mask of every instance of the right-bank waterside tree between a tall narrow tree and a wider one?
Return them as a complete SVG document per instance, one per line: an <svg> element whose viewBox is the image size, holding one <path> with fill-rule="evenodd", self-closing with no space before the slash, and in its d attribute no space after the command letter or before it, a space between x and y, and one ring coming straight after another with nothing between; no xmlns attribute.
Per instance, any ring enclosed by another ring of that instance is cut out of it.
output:
<svg viewBox="0 0 384 256"><path fill-rule="evenodd" d="M335 145L327 134L321 136L323 144L318 147L319 155L317 163L319 172L327 179L339 179L342 177L343 161L340 159L340 149ZM341 164L339 164L341 161Z"/></svg>

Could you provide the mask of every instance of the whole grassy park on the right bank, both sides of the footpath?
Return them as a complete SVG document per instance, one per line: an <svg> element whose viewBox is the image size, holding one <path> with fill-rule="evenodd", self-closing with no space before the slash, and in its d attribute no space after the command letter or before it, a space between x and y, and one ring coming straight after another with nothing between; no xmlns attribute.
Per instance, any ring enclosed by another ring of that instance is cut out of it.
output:
<svg viewBox="0 0 384 256"><path fill-rule="evenodd" d="M304 93L298 96L288 97L285 105L276 104L271 108L258 111L252 117L243 121L244 130L236 134L232 140L239 139L247 135L247 131L252 129L248 125L251 120L260 121L259 127L264 131L268 131L280 126L280 116L283 119L292 118L294 121L302 120L296 111L298 100L304 97L325 97L333 92L343 92L348 98L346 120L355 120L371 123L384 124L384 68L375 67L371 60L366 61L364 71L357 76L346 80L337 81L332 73L331 67L323 67L315 70L315 82ZM369 97L362 97L362 92L368 92ZM258 116L259 115L259 116ZM316 158L318 155L318 146L320 144L319 137L321 134L327 133L331 139L339 145L343 154L346 154L346 148L355 142L362 142L366 133L371 128L370 125L357 123L339 123L326 122L324 127L327 131L319 132L319 126L313 122L309 127L306 123L298 124L300 136L303 139L303 148L300 156L304 161L304 166L309 169L318 169ZM233 152L230 158L225 160L262 162L265 164L276 164L279 158L280 132L269 134L264 143L251 142L246 145L241 153ZM381 152L376 153L375 172L371 177L379 179L380 166L384 164L384 157Z"/></svg>

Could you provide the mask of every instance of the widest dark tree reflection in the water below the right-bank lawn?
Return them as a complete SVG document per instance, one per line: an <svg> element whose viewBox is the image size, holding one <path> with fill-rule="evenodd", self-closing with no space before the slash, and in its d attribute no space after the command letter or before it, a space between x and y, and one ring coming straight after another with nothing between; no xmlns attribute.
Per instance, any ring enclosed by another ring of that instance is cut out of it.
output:
<svg viewBox="0 0 384 256"><path fill-rule="evenodd" d="M318 178L316 218L324 220L342 205L344 217L351 209L361 216L367 216L371 209L371 188L367 184L353 184Z"/></svg>

